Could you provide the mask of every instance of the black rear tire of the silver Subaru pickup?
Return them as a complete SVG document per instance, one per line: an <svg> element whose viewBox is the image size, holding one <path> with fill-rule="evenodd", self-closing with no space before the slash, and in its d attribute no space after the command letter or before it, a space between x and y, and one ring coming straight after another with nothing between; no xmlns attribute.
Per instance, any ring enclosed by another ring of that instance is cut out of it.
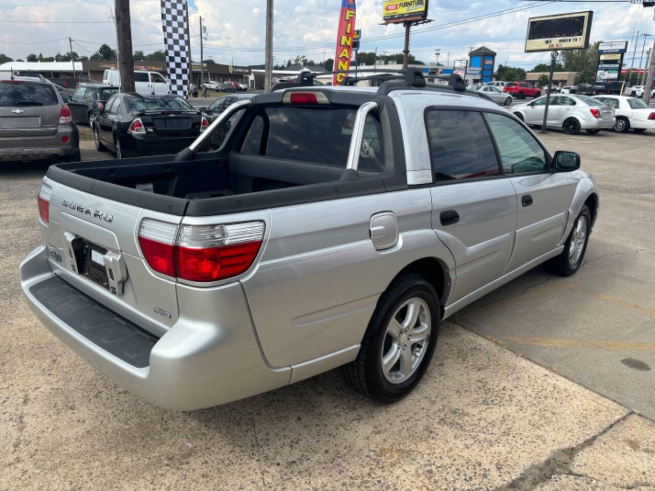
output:
<svg viewBox="0 0 655 491"><path fill-rule="evenodd" d="M411 312L417 312L417 316L412 316ZM403 320L407 322L404 332ZM398 276L377 301L356 359L343 366L348 385L369 399L384 403L407 395L419 383L430 363L439 321L439 300L432 283L420 274ZM422 342L411 343L411 332L425 338ZM385 355L391 360L386 370L383 368Z"/></svg>

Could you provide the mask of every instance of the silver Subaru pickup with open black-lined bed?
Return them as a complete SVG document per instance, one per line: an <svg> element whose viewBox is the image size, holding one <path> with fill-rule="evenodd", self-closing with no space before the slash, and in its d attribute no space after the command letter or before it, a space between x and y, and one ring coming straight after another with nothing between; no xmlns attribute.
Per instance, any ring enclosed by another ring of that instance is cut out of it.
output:
<svg viewBox="0 0 655 491"><path fill-rule="evenodd" d="M399 399L443 319L540 263L574 274L599 209L577 154L551 155L457 76L406 75L301 74L235 101L176 156L50 166L43 243L20 264L31 308L170 409L341 365L360 393Z"/></svg>

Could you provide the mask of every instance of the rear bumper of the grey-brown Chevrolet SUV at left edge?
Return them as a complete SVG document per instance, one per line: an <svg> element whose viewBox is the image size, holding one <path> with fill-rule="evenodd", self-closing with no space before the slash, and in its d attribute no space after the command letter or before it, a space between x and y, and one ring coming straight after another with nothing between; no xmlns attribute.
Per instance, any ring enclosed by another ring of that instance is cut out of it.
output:
<svg viewBox="0 0 655 491"><path fill-rule="evenodd" d="M68 137L64 143L62 138ZM56 155L64 158L79 149L79 130L71 124L60 126L54 135L0 138L1 161L44 160Z"/></svg>

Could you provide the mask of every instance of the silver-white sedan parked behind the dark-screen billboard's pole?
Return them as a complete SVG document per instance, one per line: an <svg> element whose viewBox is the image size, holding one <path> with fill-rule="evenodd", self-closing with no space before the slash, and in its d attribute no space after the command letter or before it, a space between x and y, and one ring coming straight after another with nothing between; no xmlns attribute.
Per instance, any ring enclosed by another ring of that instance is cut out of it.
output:
<svg viewBox="0 0 655 491"><path fill-rule="evenodd" d="M528 126L540 126L544 120L546 98L542 96L527 103L515 104L510 112L519 117ZM589 134L600 130L614 128L614 111L601 101L581 94L550 96L548 105L548 128L561 128L569 135L576 135L580 130Z"/></svg>

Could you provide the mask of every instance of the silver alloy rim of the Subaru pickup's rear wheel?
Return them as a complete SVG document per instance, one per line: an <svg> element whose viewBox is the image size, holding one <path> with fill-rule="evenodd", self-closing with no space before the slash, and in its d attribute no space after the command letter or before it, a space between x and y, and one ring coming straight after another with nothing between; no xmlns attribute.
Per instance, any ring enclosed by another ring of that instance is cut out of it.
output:
<svg viewBox="0 0 655 491"><path fill-rule="evenodd" d="M428 304L419 297L406 300L394 312L384 333L381 368L392 384L405 382L428 351L432 320Z"/></svg>

